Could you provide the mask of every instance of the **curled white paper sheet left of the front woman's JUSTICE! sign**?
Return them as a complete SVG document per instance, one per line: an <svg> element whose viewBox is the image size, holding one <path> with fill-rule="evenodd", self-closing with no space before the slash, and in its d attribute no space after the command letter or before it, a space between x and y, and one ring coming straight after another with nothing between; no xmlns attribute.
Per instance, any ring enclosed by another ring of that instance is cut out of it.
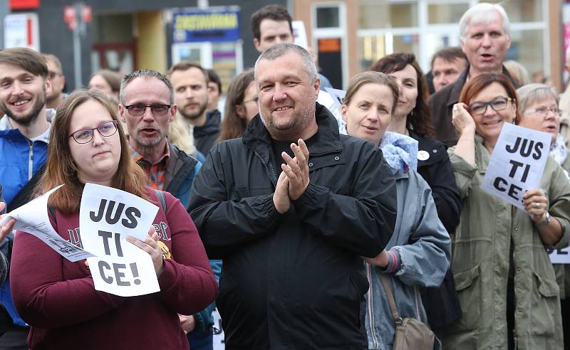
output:
<svg viewBox="0 0 570 350"><path fill-rule="evenodd" d="M68 242L61 238L58 233L53 230L48 217L48 198L51 193L57 191L61 186L57 186L55 189L43 194L33 201L29 201L14 211L8 213L0 221L0 226L3 226L11 218L16 219L14 224L15 230L21 230L31 235L35 235L37 238L41 239L43 243L56 250L58 254L66 258L71 262L76 262L93 256L92 254L86 252L85 250L78 248L73 243Z"/></svg>

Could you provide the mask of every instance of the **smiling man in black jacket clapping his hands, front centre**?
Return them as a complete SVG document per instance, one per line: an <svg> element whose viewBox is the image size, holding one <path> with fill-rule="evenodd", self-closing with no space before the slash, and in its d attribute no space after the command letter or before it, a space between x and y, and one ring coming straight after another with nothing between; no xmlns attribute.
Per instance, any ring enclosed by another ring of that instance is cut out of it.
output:
<svg viewBox="0 0 570 350"><path fill-rule="evenodd" d="M316 104L304 48L268 48L255 75L260 115L209 152L190 198L207 253L224 260L226 349L366 349L361 256L393 233L391 172Z"/></svg>

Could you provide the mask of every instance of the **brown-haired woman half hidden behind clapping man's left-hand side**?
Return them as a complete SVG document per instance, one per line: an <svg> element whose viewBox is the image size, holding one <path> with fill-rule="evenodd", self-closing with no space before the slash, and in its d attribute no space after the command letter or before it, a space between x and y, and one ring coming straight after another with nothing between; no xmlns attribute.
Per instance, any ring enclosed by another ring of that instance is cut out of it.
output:
<svg viewBox="0 0 570 350"><path fill-rule="evenodd" d="M219 141L242 137L247 124L259 113L257 88L252 69L237 75L229 83Z"/></svg>

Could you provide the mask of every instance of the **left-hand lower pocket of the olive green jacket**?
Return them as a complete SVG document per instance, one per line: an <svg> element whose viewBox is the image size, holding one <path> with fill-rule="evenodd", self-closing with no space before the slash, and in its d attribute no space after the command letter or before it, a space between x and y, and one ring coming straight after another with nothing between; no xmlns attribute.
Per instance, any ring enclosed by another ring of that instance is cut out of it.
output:
<svg viewBox="0 0 570 350"><path fill-rule="evenodd" d="M457 321L458 330L477 329L481 318L481 281L480 265L477 264L470 270L457 272L453 275L455 279L455 290L459 298L462 317Z"/></svg>

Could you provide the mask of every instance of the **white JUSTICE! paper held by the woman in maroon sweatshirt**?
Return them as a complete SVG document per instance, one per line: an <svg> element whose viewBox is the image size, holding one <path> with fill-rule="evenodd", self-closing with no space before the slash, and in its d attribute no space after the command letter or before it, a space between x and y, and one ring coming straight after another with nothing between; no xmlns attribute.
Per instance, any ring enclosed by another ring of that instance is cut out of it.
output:
<svg viewBox="0 0 570 350"><path fill-rule="evenodd" d="M81 197L79 227L95 290L122 297L158 292L150 255L128 243L132 235L144 240L158 207L144 199L107 186L86 184Z"/></svg>

